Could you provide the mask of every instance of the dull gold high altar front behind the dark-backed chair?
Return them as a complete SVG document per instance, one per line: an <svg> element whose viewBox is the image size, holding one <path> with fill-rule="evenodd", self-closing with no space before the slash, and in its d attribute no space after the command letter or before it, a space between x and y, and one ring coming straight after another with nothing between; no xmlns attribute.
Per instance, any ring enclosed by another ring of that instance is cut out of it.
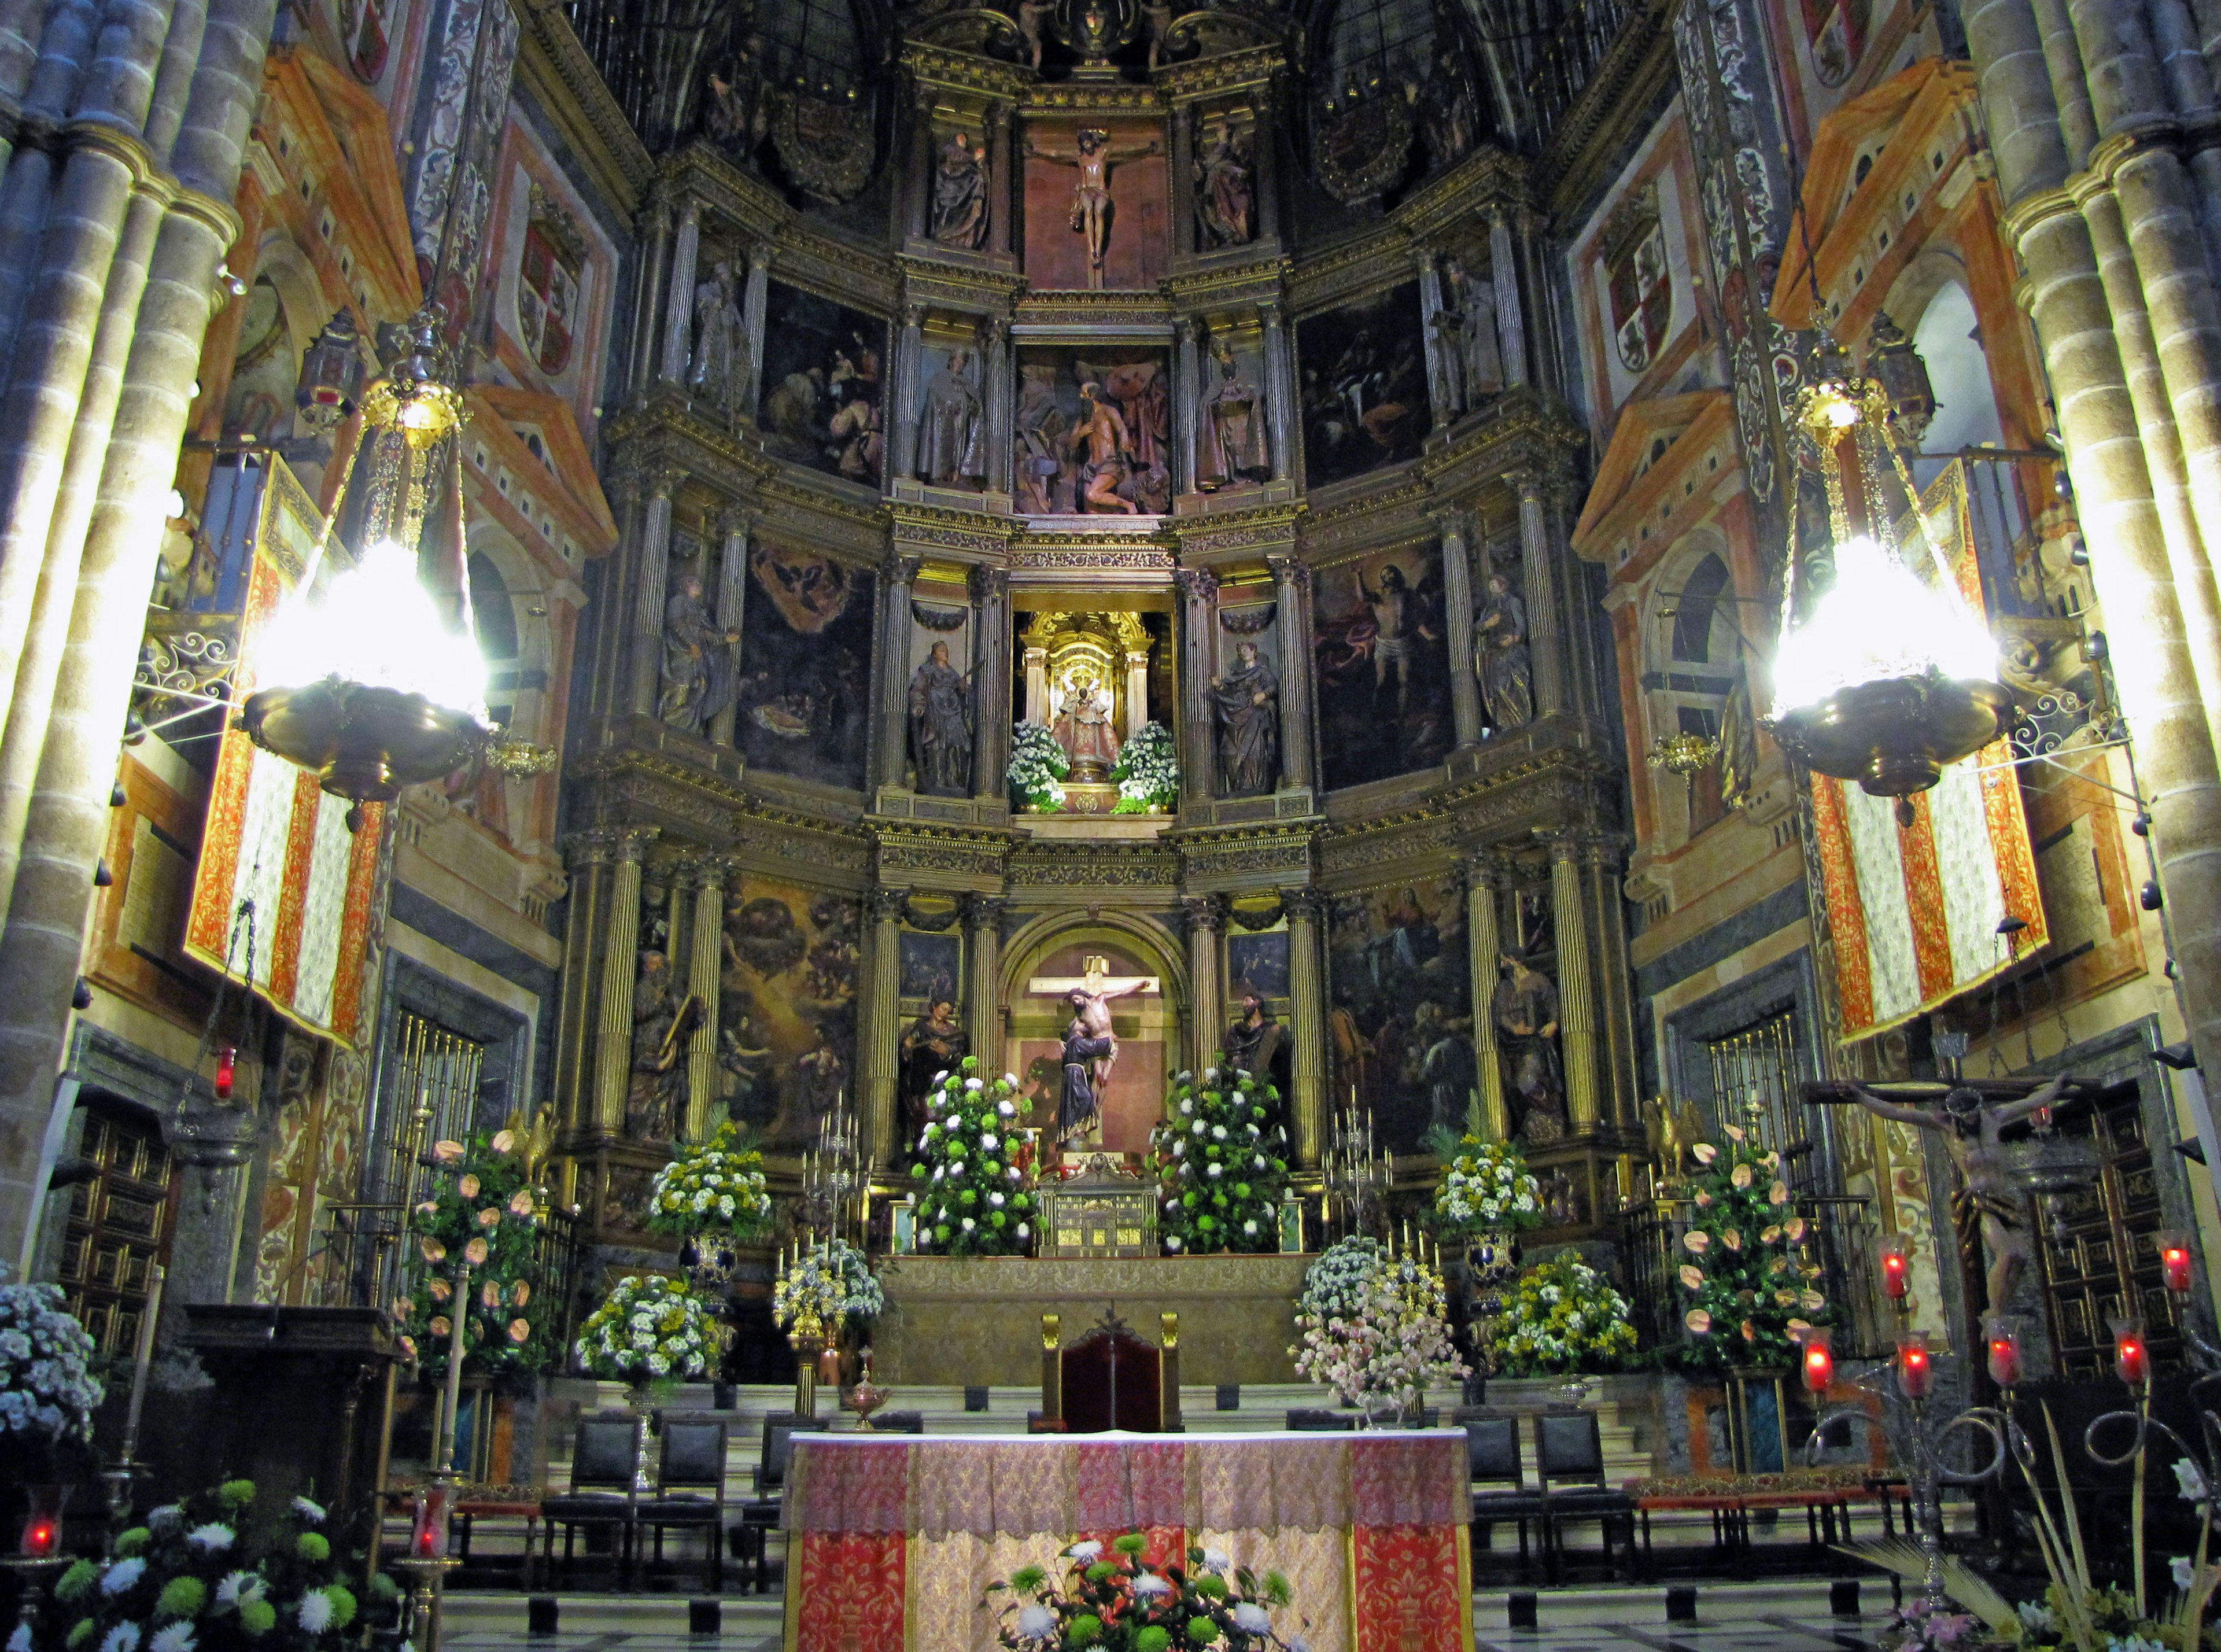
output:
<svg viewBox="0 0 2221 1652"><path fill-rule="evenodd" d="M1293 1383L1295 1299L1310 1257L888 1257L873 1323L884 1383L1042 1381L1042 1314L1079 1334L1106 1308L1128 1326L1179 1314L1182 1381Z"/></svg>

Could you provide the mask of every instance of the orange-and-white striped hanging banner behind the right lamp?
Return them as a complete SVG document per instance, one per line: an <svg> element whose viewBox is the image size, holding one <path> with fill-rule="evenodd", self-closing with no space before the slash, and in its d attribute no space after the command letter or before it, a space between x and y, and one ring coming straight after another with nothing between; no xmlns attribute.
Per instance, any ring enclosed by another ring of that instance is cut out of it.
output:
<svg viewBox="0 0 2221 1652"><path fill-rule="evenodd" d="M1959 593L1986 617L1961 462L1921 493L1921 520ZM1926 575L1932 557L1910 528L1906 522L1901 533L1906 564ZM1932 790L1912 797L1912 824L1903 828L1890 797L1812 775L1846 1044L1926 1015L2050 941L2010 759L2012 748L1999 739L1950 764ZM2026 928L1999 935L2008 917Z"/></svg>

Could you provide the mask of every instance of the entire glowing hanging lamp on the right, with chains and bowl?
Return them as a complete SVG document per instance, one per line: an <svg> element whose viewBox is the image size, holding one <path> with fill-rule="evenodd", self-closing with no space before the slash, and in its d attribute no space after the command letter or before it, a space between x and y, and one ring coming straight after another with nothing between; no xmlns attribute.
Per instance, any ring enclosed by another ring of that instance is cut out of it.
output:
<svg viewBox="0 0 2221 1652"><path fill-rule="evenodd" d="M1910 826L1912 795L1997 739L2012 697L1997 679L1997 644L1921 524L1890 411L1883 384L1843 373L1821 375L1797 397L1797 429L1828 486L1835 577L1799 615L1790 544L1766 726L1808 768L1895 797L1897 822ZM1881 497L1886 473L1910 502L1934 580L1899 555Z"/></svg>

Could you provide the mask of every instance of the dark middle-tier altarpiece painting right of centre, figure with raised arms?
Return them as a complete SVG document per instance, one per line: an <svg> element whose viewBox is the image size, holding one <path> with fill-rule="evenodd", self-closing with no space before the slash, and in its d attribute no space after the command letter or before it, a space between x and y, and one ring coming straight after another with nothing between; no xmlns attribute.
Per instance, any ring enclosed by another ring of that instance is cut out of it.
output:
<svg viewBox="0 0 2221 1652"><path fill-rule="evenodd" d="M1450 755L1450 644L1435 546L1321 568L1313 622L1330 790L1408 775Z"/></svg>

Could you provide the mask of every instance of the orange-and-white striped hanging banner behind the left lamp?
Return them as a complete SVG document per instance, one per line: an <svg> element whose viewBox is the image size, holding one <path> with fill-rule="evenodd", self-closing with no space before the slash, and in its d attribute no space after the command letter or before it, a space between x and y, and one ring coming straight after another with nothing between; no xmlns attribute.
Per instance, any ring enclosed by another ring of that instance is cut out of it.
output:
<svg viewBox="0 0 2221 1652"><path fill-rule="evenodd" d="M306 568L322 517L275 453L224 466L220 475L222 513L211 486L207 520L224 524L213 548L222 584L240 591L231 704L242 704L255 686L260 635ZM324 573L342 566L333 544ZM384 819L380 804L364 804L362 830L351 833L349 806L306 768L227 726L184 924L189 957L235 979L244 975L280 1015L338 1044L355 1037Z"/></svg>

